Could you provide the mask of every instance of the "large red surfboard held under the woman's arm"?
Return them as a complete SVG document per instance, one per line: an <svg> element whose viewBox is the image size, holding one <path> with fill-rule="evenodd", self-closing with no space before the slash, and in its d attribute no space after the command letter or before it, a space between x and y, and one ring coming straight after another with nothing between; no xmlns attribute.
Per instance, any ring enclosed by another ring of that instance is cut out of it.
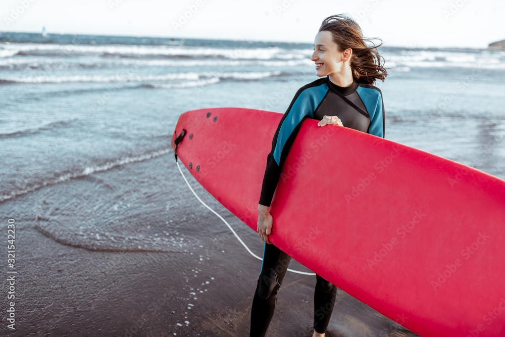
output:
<svg viewBox="0 0 505 337"><path fill-rule="evenodd" d="M241 108L188 111L172 137L189 172L253 230L281 118ZM270 241L422 336L504 336L505 181L317 123L304 120L282 167Z"/></svg>

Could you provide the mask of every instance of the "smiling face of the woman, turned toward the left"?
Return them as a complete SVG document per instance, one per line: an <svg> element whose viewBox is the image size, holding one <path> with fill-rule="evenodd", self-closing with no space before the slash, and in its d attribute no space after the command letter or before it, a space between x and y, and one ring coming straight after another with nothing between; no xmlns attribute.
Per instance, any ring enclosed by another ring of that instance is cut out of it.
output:
<svg viewBox="0 0 505 337"><path fill-rule="evenodd" d="M341 72L344 62L349 59L351 53L350 48L340 53L329 31L318 32L314 39L314 53L311 58L316 63L316 75L323 77Z"/></svg>

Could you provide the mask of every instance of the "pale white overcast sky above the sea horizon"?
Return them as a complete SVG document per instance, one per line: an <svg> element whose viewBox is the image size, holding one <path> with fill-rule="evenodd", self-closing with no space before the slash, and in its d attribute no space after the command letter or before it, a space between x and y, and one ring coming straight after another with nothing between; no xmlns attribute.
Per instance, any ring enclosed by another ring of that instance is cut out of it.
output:
<svg viewBox="0 0 505 337"><path fill-rule="evenodd" d="M505 39L504 0L2 0L0 31L313 43L321 21L340 13L388 45Z"/></svg>

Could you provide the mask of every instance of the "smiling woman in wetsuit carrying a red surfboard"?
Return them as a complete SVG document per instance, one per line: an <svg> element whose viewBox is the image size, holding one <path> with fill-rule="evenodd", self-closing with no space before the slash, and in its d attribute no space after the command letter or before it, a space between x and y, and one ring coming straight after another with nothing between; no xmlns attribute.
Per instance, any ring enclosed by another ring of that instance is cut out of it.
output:
<svg viewBox="0 0 505 337"><path fill-rule="evenodd" d="M252 300L251 337L266 334L277 292L291 259L268 239L273 224L269 208L282 164L302 121L313 118L320 120L321 127L337 124L384 137L382 93L372 85L376 79L384 81L387 76L377 52L382 40L377 46L368 46L365 40L360 26L350 17L341 14L324 19L314 40L311 58L316 75L322 78L298 89L275 131L258 205L258 234L265 245ZM333 284L316 275L313 336L324 336L336 290Z"/></svg>

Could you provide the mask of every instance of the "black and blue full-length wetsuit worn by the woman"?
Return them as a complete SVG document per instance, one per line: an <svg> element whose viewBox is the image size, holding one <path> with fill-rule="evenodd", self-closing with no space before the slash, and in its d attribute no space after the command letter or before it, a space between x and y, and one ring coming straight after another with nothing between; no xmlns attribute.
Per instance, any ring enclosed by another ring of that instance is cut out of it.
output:
<svg viewBox="0 0 505 337"><path fill-rule="evenodd" d="M282 116L267 157L259 203L270 206L280 178L282 165L305 118L317 120L337 116L343 126L384 137L385 115L382 92L371 84L354 81L341 87L329 76L319 78L298 89ZM277 292L291 257L274 245L265 243L263 263L256 293L252 300L250 336L264 336L275 309ZM316 275L314 292L314 329L324 333L335 301L336 287Z"/></svg>

